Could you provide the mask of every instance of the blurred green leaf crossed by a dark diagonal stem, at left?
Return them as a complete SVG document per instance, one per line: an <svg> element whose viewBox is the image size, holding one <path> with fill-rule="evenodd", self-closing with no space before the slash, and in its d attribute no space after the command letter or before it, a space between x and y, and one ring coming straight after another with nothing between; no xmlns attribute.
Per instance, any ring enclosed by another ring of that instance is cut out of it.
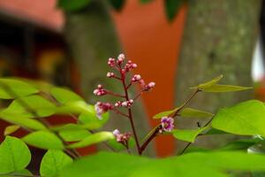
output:
<svg viewBox="0 0 265 177"><path fill-rule="evenodd" d="M5 113L11 114L13 117L36 118L47 117L55 113L56 105L49 102L42 96L25 96L14 100Z"/></svg>

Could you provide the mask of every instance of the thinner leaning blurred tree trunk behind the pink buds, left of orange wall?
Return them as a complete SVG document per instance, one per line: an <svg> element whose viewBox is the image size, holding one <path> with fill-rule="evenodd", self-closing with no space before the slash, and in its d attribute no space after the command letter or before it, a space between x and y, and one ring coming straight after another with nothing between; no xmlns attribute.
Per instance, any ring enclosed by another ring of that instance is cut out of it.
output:
<svg viewBox="0 0 265 177"><path fill-rule="evenodd" d="M99 99L102 100L102 97L95 97L92 94L97 84L102 83L107 89L123 92L122 85L118 81L111 81L106 77L106 73L110 71L107 65L108 58L116 58L122 50L105 2L97 0L79 12L65 13L64 35L72 58L75 59L79 68L81 90L90 104L95 104ZM103 98L103 100L107 99ZM115 99L108 97L108 101L115 101ZM149 129L148 119L141 103L134 104L133 116L141 139ZM128 119L112 114L106 129L112 131L115 128L131 131ZM148 153L151 153L150 149Z"/></svg>

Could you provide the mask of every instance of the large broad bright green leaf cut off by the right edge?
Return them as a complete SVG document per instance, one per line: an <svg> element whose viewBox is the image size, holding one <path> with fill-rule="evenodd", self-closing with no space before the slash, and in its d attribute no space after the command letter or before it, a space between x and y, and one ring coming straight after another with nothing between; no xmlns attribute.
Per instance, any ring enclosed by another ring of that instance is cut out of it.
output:
<svg viewBox="0 0 265 177"><path fill-rule="evenodd" d="M250 100L217 112L212 127L236 135L265 136L265 107Z"/></svg>

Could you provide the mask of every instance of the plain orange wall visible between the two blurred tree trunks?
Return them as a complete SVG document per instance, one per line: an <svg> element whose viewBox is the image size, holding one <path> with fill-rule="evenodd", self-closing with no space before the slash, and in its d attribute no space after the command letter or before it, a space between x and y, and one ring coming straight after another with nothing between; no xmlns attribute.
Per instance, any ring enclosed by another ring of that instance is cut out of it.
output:
<svg viewBox="0 0 265 177"><path fill-rule="evenodd" d="M143 96L152 127L157 121L151 119L157 112L174 106L174 82L181 35L186 19L186 6L178 17L169 23L165 17L163 1L155 0L140 4L139 0L127 0L122 12L114 13L118 35L125 54L138 65L137 73L146 81L155 81L155 89ZM155 140L158 155L169 156L173 150L172 136Z"/></svg>

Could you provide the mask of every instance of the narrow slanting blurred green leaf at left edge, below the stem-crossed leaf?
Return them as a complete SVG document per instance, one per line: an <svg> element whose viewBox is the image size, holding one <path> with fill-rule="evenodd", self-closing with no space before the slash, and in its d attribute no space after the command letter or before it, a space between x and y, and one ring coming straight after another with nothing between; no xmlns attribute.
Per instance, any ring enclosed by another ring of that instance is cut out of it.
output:
<svg viewBox="0 0 265 177"><path fill-rule="evenodd" d="M23 118L25 117L25 118ZM43 124L36 119L28 119L27 115L19 114L19 112L10 112L7 109L0 112L0 118L4 119L11 124L16 124L21 127L27 127L33 130L44 130L46 129Z"/></svg>

